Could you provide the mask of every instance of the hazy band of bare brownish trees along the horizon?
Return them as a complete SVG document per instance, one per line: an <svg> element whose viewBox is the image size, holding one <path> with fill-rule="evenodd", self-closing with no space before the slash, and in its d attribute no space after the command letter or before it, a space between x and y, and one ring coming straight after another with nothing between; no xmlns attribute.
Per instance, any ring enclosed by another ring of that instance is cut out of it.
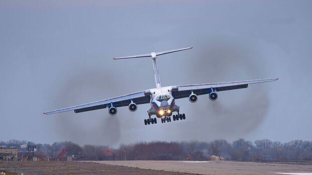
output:
<svg viewBox="0 0 312 175"><path fill-rule="evenodd" d="M0 141L0 145L17 146L27 144L25 140ZM34 143L32 143L34 144ZM63 148L66 156L75 155L76 160L209 160L211 155L226 160L312 160L312 141L292 140L281 143L269 139L254 143L238 139L203 141L151 141L121 144L117 149L108 146L80 146L71 141L53 144L37 143L36 155L55 159ZM22 148L19 148L22 149ZM109 150L109 151L107 151Z"/></svg>

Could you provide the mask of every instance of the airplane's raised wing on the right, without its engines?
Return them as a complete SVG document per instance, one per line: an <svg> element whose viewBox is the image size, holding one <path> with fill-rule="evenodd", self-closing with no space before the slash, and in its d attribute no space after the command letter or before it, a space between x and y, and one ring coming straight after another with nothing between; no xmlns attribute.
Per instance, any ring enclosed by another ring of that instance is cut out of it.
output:
<svg viewBox="0 0 312 175"><path fill-rule="evenodd" d="M232 81L232 82L216 82L207 84L189 84L189 85L177 85L172 87L172 95L175 99L189 97L191 90L197 95L208 94L211 92L211 88L214 91L232 90L238 88L247 88L248 84L276 81L278 78L268 79L254 79L244 81Z"/></svg>

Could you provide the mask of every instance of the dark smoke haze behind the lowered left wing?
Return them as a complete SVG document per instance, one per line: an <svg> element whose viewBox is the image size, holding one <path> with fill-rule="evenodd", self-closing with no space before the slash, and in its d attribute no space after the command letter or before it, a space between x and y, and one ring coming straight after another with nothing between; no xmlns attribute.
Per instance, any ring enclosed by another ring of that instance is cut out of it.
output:
<svg viewBox="0 0 312 175"><path fill-rule="evenodd" d="M65 107L105 99L109 97L107 95L118 91L116 86L119 86L119 82L109 71L97 71L90 67L72 71L73 74L63 82L61 92L57 93L56 106ZM111 145L117 143L120 137L118 117L110 116L107 108L76 114L65 112L59 114L55 122L62 139L74 140L80 144L89 142Z"/></svg>

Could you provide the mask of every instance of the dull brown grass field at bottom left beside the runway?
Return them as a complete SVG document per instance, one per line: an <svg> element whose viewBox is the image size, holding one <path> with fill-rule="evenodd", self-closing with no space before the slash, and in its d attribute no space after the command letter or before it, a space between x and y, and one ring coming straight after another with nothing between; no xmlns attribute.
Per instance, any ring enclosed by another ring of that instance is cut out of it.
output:
<svg viewBox="0 0 312 175"><path fill-rule="evenodd" d="M189 174L164 170L142 169L121 165L110 165L79 161L6 161L0 162L0 169L15 171L18 174Z"/></svg>

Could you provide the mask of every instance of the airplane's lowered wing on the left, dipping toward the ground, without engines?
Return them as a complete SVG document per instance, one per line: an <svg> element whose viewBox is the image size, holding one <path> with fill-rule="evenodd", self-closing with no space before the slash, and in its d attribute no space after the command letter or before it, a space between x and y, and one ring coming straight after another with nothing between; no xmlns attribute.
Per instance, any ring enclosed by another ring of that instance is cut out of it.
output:
<svg viewBox="0 0 312 175"><path fill-rule="evenodd" d="M51 110L51 111L44 112L44 114L52 114L52 113L70 111L70 110L74 110L75 113L85 112L89 110L96 110L96 109L110 107L111 102L114 107L126 106L131 103L131 99L136 104L149 103L150 90L149 89L143 90L143 91L134 92L134 93L126 94L126 95L116 96L113 98L103 99L103 100L99 100L95 102L89 102L86 104Z"/></svg>

